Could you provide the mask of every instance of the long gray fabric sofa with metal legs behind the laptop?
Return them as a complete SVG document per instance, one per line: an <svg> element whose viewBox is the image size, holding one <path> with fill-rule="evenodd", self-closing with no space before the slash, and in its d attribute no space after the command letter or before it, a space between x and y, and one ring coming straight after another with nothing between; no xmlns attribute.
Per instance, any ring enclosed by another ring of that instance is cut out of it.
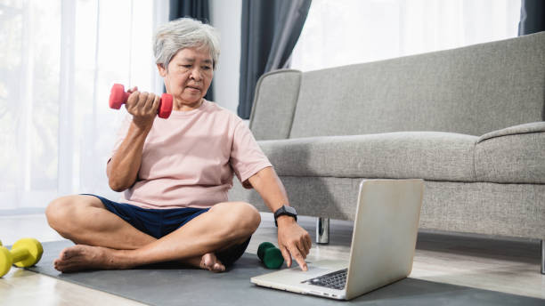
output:
<svg viewBox="0 0 545 306"><path fill-rule="evenodd" d="M353 220L362 178L421 178L421 229L541 239L545 252L544 120L541 32L274 71L249 125L299 214ZM230 198L268 211L239 182Z"/></svg>

